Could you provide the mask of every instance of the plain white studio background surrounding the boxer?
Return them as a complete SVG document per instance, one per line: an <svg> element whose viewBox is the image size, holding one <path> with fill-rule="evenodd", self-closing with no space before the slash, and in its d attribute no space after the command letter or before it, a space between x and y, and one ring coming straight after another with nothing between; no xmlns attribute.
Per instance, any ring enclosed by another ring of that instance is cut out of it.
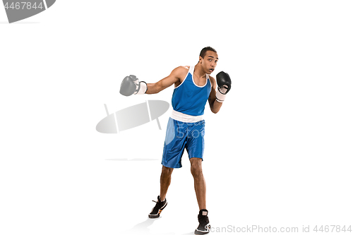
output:
<svg viewBox="0 0 353 235"><path fill-rule="evenodd" d="M173 2L173 3L171 3ZM232 90L206 104L213 227L353 225L352 1L64 1L8 24L0 7L0 234L193 234L189 160L159 194L171 108L119 134L97 123L157 95L119 94L217 49ZM353 229L353 228L352 228ZM217 234L217 233L215 233ZM255 234L255 233L253 233ZM313 233L314 234L314 233Z"/></svg>

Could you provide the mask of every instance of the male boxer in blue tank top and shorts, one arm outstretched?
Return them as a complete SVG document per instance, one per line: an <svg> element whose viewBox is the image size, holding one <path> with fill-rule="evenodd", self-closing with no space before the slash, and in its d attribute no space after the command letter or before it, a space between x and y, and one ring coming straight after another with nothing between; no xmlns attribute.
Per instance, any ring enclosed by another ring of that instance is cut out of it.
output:
<svg viewBox="0 0 353 235"><path fill-rule="evenodd" d="M227 73L217 74L218 88L215 78L210 76L217 66L217 61L218 55L215 49L205 47L201 50L196 66L179 66L157 83L147 84L138 81L136 76L127 76L120 88L120 93L126 96L156 94L174 84L173 111L168 121L164 141L160 195L148 216L150 218L160 217L160 213L167 206L165 196L171 182L172 172L174 168L181 167L181 156L186 149L200 209L199 225L195 234L207 234L210 229L208 210L206 210L206 185L202 171L205 135L203 112L207 101L213 113L219 112L231 88L231 80Z"/></svg>

